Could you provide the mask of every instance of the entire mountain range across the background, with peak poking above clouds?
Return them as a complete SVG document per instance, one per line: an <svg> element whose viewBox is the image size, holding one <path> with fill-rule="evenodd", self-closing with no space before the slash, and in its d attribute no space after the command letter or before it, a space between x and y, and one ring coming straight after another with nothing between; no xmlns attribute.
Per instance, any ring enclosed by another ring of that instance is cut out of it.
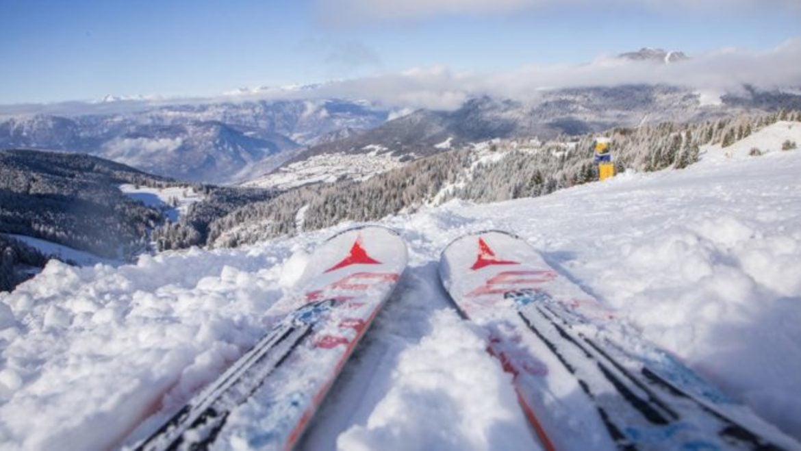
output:
<svg viewBox="0 0 801 451"><path fill-rule="evenodd" d="M651 48L617 58L670 64L687 59L682 52ZM299 87L292 93L312 91ZM272 92L268 88L243 92L222 100L108 101L73 114L58 108L44 109L49 114L6 108L3 114L0 108L0 149L77 151L175 179L285 189L364 179L380 167L489 139L553 139L801 109L801 95L791 91L744 87L710 95L667 84L540 89L525 99L477 95L453 111L405 115L366 100L268 100L258 99ZM315 167L332 169L321 175Z"/></svg>

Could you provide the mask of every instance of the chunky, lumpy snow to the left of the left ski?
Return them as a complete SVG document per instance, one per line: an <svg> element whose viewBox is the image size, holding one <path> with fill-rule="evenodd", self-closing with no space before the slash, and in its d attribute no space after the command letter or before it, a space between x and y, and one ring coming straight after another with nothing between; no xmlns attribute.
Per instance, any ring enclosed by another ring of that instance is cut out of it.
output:
<svg viewBox="0 0 801 451"><path fill-rule="evenodd" d="M264 332L282 248L119 268L50 260L0 293L4 446L108 449L163 405L183 404Z"/></svg>

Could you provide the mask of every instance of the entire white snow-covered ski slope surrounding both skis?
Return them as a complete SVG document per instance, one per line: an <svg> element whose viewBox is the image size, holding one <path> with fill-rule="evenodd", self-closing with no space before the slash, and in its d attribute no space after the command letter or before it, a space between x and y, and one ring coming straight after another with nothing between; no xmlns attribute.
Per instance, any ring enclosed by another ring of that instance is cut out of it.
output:
<svg viewBox="0 0 801 451"><path fill-rule="evenodd" d="M801 151L704 151L682 171L380 221L407 241L409 267L300 449L536 449L511 377L437 280L441 250L489 228L528 240L647 339L801 438ZM146 437L260 338L308 252L348 225L119 268L52 261L0 293L0 449Z"/></svg>

